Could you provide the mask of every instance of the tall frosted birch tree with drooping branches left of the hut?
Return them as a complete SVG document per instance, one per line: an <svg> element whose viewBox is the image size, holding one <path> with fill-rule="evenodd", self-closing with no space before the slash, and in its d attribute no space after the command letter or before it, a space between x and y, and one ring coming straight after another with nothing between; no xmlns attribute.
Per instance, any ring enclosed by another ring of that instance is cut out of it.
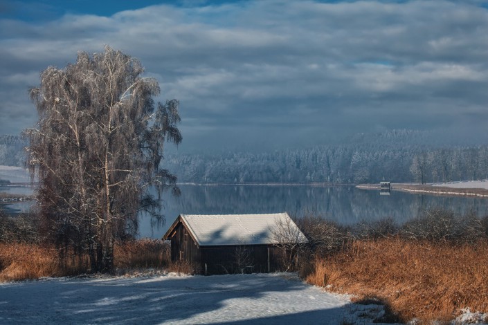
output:
<svg viewBox="0 0 488 325"><path fill-rule="evenodd" d="M159 84L143 71L107 46L46 68L30 89L39 121L25 133L42 224L59 247L87 254L92 272L113 270L114 241L136 233L138 212L163 218L150 188L179 194L160 168L165 141L181 142L179 103L156 104Z"/></svg>

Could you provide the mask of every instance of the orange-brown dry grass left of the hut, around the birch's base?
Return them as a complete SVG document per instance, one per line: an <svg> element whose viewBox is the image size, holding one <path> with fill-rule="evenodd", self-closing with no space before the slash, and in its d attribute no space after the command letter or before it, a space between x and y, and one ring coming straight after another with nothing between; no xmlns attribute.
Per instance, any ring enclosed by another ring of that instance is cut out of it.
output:
<svg viewBox="0 0 488 325"><path fill-rule="evenodd" d="M115 267L118 272L132 269L165 268L169 247L162 241L140 240L116 245ZM0 281L21 281L39 277L63 277L89 272L86 257L64 254L60 259L55 248L37 244L0 243Z"/></svg>

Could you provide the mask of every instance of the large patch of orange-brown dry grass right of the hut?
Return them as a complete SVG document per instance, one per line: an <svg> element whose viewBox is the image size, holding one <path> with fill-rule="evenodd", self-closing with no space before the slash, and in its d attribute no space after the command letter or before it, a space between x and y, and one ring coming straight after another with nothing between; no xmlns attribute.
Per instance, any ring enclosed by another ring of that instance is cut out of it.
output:
<svg viewBox="0 0 488 325"><path fill-rule="evenodd" d="M401 239L354 241L315 261L311 284L386 301L406 322L447 321L461 308L488 312L488 243L453 245Z"/></svg>

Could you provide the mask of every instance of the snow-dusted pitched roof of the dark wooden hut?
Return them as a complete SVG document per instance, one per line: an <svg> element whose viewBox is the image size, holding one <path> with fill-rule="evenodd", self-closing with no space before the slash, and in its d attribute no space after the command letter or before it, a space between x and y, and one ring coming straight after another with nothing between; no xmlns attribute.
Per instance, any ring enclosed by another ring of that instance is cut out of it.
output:
<svg viewBox="0 0 488 325"><path fill-rule="evenodd" d="M275 214L180 214L164 239L181 221L201 246L260 245L286 241L306 243L307 239L286 212ZM281 226L280 226L281 225ZM287 232L287 238L276 234Z"/></svg>

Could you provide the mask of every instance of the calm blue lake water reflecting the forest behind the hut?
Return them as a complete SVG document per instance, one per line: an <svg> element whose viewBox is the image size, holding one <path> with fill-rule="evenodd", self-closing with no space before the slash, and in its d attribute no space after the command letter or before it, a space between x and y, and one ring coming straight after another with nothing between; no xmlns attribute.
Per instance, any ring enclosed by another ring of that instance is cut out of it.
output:
<svg viewBox="0 0 488 325"><path fill-rule="evenodd" d="M28 187L3 187L0 192L30 194ZM392 217L401 224L435 207L464 214L474 210L488 214L487 198L431 196L392 191L389 196L378 191L352 186L309 185L180 185L181 196L163 196L166 222L155 225L141 216L140 236L161 238L179 214L252 214L288 212L303 216L320 214L338 223L352 225L359 221L377 221ZM9 208L26 210L33 203L13 203Z"/></svg>

